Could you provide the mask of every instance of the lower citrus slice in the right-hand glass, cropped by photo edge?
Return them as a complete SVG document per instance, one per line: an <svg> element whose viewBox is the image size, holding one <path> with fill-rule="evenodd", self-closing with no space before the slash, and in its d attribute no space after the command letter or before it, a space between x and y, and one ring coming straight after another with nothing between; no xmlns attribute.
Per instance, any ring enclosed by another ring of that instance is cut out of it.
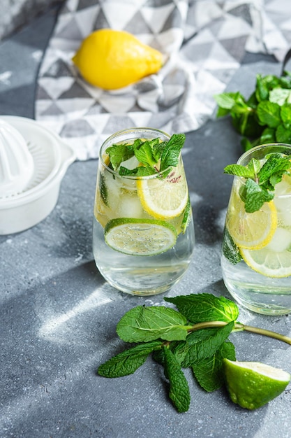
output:
<svg viewBox="0 0 291 438"><path fill-rule="evenodd" d="M246 264L259 274L281 278L291 275L291 232L278 227L271 242L259 250L240 249Z"/></svg>

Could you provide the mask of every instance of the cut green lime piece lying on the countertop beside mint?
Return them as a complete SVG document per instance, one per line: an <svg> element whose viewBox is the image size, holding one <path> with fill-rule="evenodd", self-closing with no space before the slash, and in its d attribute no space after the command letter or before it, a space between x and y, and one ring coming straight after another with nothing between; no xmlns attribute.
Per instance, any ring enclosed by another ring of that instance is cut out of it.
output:
<svg viewBox="0 0 291 438"><path fill-rule="evenodd" d="M225 383L232 402L257 409L280 395L290 382L290 374L260 362L223 359Z"/></svg>

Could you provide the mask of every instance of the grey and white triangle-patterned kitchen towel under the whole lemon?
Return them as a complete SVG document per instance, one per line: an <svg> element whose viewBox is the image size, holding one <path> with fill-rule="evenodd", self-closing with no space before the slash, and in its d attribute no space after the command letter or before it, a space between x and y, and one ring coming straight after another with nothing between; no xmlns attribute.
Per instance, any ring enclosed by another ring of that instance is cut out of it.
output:
<svg viewBox="0 0 291 438"><path fill-rule="evenodd" d="M71 58L101 28L134 34L163 52L165 65L120 90L89 85ZM285 0L67 0L38 74L35 118L70 143L78 160L98 157L119 129L189 132L214 114L214 94L246 51L281 61L290 45Z"/></svg>

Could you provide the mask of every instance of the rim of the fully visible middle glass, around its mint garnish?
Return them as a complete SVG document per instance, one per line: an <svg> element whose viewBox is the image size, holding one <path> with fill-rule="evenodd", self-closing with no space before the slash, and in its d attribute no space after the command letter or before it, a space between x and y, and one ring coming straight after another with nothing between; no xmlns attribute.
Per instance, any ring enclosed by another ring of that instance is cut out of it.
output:
<svg viewBox="0 0 291 438"><path fill-rule="evenodd" d="M163 171L159 171L156 174L144 175L144 176L136 176L136 175L120 175L118 173L118 171L116 171L114 169L111 169L104 162L104 160L103 160L103 152L105 150L106 143L109 143L108 146L107 146L109 148L110 146L112 146L112 144L114 144L114 143L110 143L114 138L117 138L120 135L125 135L126 133L133 134L135 132L140 132L141 134L142 134L142 132L154 132L154 133L157 133L157 134L161 134L163 137L166 137L168 140L170 140L170 138L171 138L170 134L167 134L167 132L164 132L161 129L151 128L151 127L130 127L130 128L126 128L126 129L121 129L121 130L119 130L117 132L114 132L114 134L112 134L105 141L103 141L102 145L100 146L100 150L99 150L99 161L100 161L100 163L103 165L103 167L108 172L110 172L110 174L112 174L114 176L117 176L118 178L122 178L122 179L149 180L149 179L154 179L154 178L158 178L158 177L167 176L167 174L170 173L170 169L172 169L172 166L169 166L169 167L167 167L167 169L164 169ZM153 137L153 139L154 138L156 138L156 137ZM138 137L136 137L136 139L138 139ZM123 141L123 140L121 140L121 141ZM126 141L126 139L124 139L124 141Z"/></svg>

